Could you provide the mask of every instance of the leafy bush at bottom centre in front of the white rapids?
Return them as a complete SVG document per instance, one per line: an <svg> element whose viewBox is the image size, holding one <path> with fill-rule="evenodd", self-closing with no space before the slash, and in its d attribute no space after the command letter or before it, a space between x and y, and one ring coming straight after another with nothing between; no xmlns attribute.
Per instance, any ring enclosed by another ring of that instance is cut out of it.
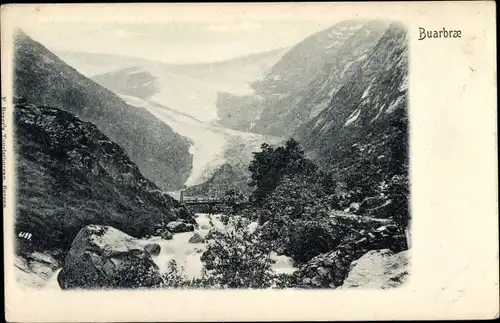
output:
<svg viewBox="0 0 500 323"><path fill-rule="evenodd" d="M250 221L230 218L225 230L212 229L202 254L206 285L218 288L270 287L273 277L268 244L249 229Z"/></svg>

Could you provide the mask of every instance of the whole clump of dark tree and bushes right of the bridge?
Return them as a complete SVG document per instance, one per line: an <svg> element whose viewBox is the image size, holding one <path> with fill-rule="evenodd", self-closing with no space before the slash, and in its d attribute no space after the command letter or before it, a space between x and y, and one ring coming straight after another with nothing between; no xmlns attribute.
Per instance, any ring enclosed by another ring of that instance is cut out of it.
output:
<svg viewBox="0 0 500 323"><path fill-rule="evenodd" d="M295 140L276 149L263 145L249 170L260 231L274 250L304 263L340 243L345 230L328 219L340 204L335 178L308 160Z"/></svg>

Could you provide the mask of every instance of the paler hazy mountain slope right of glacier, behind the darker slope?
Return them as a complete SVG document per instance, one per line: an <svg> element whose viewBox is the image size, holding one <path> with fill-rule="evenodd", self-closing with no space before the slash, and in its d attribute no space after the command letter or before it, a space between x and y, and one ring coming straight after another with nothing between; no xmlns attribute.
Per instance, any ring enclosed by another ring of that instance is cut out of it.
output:
<svg viewBox="0 0 500 323"><path fill-rule="evenodd" d="M263 79L252 83L253 97L222 100L223 96L218 101L219 123L259 133L292 134L328 106L343 80L367 60L387 26L383 21L349 20L304 39ZM249 115L249 110L254 112Z"/></svg>

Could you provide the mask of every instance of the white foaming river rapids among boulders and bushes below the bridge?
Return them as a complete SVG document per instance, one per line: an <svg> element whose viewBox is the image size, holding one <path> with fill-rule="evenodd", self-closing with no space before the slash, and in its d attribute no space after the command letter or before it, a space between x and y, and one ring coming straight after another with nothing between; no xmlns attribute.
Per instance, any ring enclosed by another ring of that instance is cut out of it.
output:
<svg viewBox="0 0 500 323"><path fill-rule="evenodd" d="M220 215L208 215L204 213L196 214L196 222L198 223L198 228L194 232L197 232L202 237L205 237L210 229L215 226L219 229L224 229L225 225L219 220ZM249 225L249 229L255 229L257 223L252 222ZM194 232L184 232L174 234L172 240L164 240L160 237L152 237L150 239L140 240L144 245L148 243L158 243L161 247L160 254L158 256L153 256L153 261L157 264L160 272L165 272L168 269L168 263L170 260L175 259L178 266L182 266L188 278L196 278L201 276L202 262L200 260L201 253L205 250L204 243L189 243L189 238L191 238ZM293 267L293 260L287 256L278 256L275 252L271 252L272 258L276 261L272 268L276 273L292 273L296 270ZM54 275L47 281L47 284L43 287L44 289L60 289L57 282L57 275L59 274L57 270Z"/></svg>

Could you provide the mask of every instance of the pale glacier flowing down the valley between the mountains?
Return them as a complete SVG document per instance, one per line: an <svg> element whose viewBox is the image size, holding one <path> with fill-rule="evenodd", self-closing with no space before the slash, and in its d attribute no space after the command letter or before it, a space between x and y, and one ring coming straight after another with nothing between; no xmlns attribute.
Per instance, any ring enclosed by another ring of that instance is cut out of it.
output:
<svg viewBox="0 0 500 323"><path fill-rule="evenodd" d="M184 185L192 186L203 183L226 162L247 165L251 153L262 143L275 144L282 139L221 126L216 101L223 91L252 93L249 83L261 77L284 52L279 49L200 65L68 52L61 57L127 104L147 110L187 138L193 162Z"/></svg>

